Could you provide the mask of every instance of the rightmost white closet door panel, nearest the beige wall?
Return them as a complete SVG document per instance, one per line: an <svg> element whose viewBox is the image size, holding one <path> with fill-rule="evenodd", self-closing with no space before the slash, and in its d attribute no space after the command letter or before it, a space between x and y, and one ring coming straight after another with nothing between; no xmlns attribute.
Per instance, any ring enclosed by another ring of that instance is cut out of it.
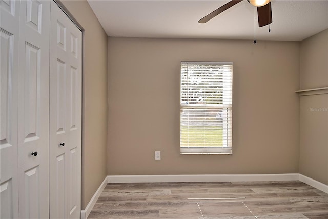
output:
<svg viewBox="0 0 328 219"><path fill-rule="evenodd" d="M50 218L79 218L81 203L81 31L51 3Z"/></svg>

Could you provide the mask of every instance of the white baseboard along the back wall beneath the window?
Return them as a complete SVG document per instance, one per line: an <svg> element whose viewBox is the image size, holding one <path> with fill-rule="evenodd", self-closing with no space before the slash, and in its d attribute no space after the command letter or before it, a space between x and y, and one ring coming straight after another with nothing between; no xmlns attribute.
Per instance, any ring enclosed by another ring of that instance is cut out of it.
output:
<svg viewBox="0 0 328 219"><path fill-rule="evenodd" d="M109 175L107 179L108 183L292 181L299 180L299 174Z"/></svg>

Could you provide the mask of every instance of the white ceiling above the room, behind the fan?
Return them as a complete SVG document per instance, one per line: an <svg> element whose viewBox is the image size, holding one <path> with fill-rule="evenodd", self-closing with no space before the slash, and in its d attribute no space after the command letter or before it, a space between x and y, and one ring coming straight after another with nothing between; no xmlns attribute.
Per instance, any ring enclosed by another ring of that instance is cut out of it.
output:
<svg viewBox="0 0 328 219"><path fill-rule="evenodd" d="M198 20L227 0L88 0L109 36L254 39L254 6L246 0L205 24ZM272 0L271 32L258 27L256 39L301 41L328 28L328 0Z"/></svg>

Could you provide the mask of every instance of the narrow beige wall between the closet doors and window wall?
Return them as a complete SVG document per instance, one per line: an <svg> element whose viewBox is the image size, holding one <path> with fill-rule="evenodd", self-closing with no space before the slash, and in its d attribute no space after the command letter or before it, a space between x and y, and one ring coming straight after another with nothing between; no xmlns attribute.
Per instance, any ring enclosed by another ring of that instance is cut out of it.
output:
<svg viewBox="0 0 328 219"><path fill-rule="evenodd" d="M83 27L82 203L107 175L107 35L87 1L62 4Z"/></svg>

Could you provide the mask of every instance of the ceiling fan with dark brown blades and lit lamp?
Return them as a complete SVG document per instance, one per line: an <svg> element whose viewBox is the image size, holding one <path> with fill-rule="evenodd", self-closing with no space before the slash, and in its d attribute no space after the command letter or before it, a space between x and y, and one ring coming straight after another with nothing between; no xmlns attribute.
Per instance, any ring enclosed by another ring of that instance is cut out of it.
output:
<svg viewBox="0 0 328 219"><path fill-rule="evenodd" d="M212 13L201 18L198 23L206 23L210 21L213 17L219 15L223 11L229 9L230 7L236 5L242 0L232 0L227 4L219 7ZM258 26L263 27L265 25L272 23L272 11L271 11L271 0L247 0L249 3L257 7L257 15L258 15Z"/></svg>

